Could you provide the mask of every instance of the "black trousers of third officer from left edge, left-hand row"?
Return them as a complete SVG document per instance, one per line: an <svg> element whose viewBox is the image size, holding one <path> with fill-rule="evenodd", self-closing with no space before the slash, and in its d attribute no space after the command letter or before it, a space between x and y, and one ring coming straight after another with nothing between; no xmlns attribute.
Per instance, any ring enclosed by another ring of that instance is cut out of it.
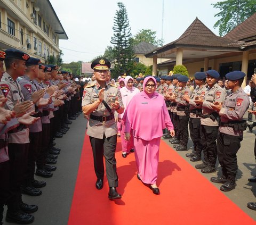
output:
<svg viewBox="0 0 256 225"><path fill-rule="evenodd" d="M29 151L28 151L28 168L25 177L25 185L30 186L30 182L34 180L36 168L36 159L42 148L42 131L29 133Z"/></svg>

